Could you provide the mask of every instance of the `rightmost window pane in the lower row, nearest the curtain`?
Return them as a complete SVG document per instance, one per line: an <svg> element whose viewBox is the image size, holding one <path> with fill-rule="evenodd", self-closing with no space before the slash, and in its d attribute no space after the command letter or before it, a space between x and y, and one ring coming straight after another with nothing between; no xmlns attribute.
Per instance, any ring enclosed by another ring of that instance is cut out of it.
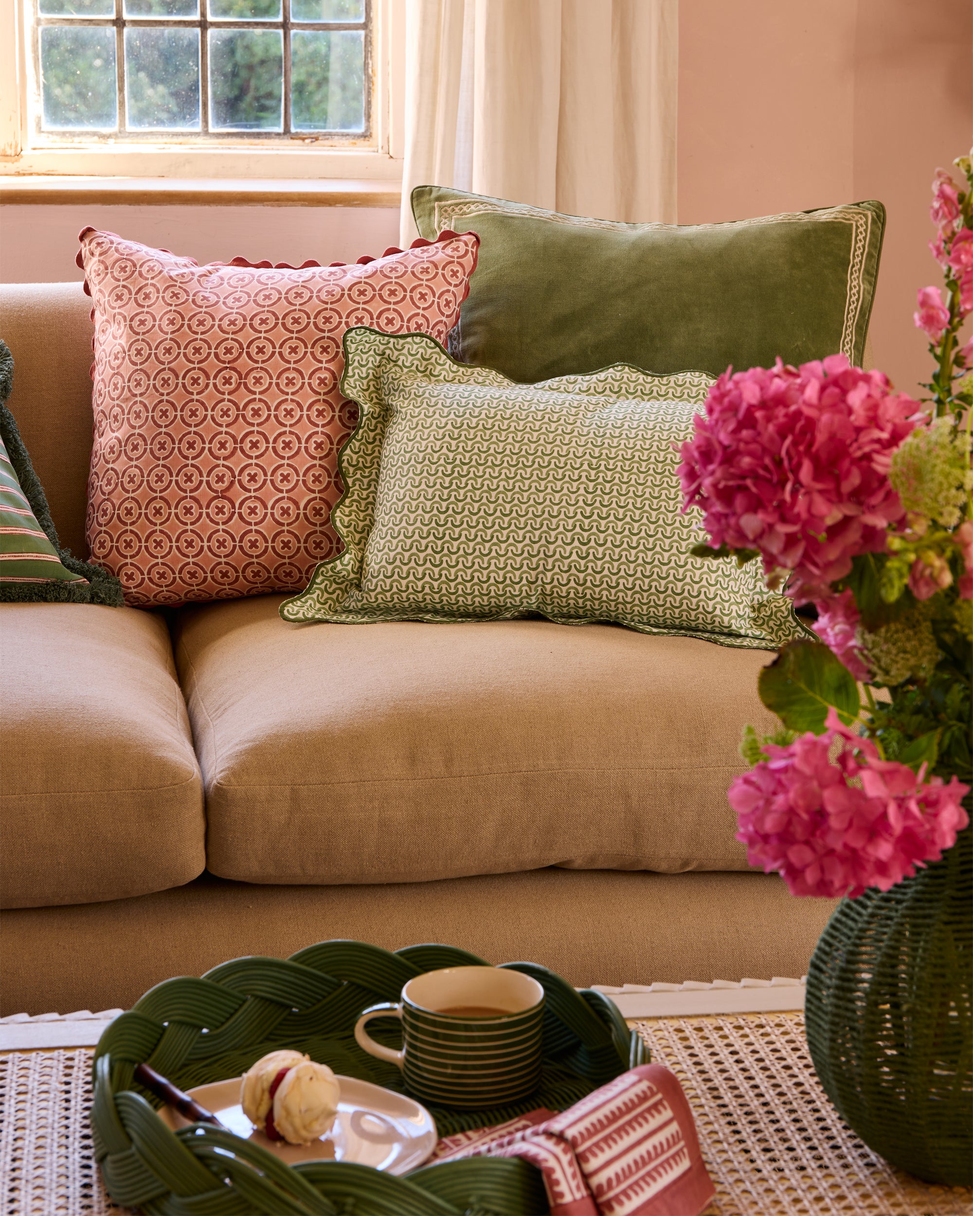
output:
<svg viewBox="0 0 973 1216"><path fill-rule="evenodd" d="M300 30L291 35L291 123L296 131L365 129L365 35Z"/></svg>

